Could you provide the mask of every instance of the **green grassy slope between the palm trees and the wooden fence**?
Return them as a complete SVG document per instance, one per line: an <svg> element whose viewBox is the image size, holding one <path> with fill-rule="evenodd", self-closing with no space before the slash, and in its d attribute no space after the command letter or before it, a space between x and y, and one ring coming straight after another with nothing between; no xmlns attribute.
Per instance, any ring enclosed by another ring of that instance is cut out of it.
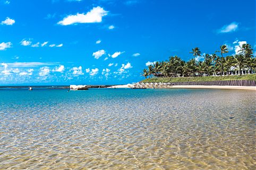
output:
<svg viewBox="0 0 256 170"><path fill-rule="evenodd" d="M208 77L163 77L163 78L147 78L141 82L201 82L214 80L256 80L256 74L247 74L241 76L208 76Z"/></svg>

